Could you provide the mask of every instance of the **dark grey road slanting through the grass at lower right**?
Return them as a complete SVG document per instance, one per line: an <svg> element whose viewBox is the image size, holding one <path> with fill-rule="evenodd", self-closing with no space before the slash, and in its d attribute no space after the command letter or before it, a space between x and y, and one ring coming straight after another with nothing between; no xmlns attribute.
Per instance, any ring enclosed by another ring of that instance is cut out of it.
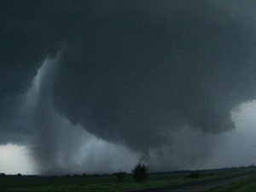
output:
<svg viewBox="0 0 256 192"><path fill-rule="evenodd" d="M201 181L197 183L177 184L164 188L136 190L132 192L201 192L253 177L256 177L255 173L236 177L218 178L210 181Z"/></svg>

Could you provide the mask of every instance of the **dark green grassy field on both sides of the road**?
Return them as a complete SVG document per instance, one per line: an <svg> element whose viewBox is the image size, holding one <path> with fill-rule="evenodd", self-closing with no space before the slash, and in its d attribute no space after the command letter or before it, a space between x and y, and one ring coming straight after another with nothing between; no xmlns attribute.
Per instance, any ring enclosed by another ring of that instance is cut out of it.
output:
<svg viewBox="0 0 256 192"><path fill-rule="evenodd" d="M221 177L232 177L256 172L256 167L241 167L221 170L200 171L199 177L188 177L191 172L163 172L150 173L148 180L143 183L134 182L131 175L125 176L125 182L117 182L114 175L88 175L88 176L63 176L63 177L39 177L39 176L9 176L0 177L0 191L127 191L132 189L150 189L171 186L181 183L194 183ZM252 180L252 179L251 179ZM256 189L253 181L238 183L247 189ZM235 191L237 186L225 186L227 191ZM233 189L232 189L233 187ZM214 189L212 191L224 191ZM255 191L255 190L254 190Z"/></svg>

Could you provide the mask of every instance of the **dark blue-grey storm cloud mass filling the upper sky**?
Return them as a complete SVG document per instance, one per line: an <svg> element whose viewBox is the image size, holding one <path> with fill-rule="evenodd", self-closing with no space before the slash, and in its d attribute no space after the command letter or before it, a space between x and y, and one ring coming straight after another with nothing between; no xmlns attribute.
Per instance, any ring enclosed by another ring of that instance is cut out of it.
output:
<svg viewBox="0 0 256 192"><path fill-rule="evenodd" d="M26 120L6 125L16 106L9 100L28 90L47 55L61 50L51 82L54 106L97 137L148 154L174 148L184 127L204 134L227 131L233 127L230 110L256 96L255 5L2 1L1 129L34 134ZM53 118L48 107L38 113L40 121Z"/></svg>

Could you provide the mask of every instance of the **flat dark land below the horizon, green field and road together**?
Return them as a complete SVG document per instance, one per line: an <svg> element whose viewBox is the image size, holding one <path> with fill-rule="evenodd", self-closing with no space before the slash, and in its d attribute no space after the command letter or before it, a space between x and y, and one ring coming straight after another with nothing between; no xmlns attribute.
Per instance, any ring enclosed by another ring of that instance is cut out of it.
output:
<svg viewBox="0 0 256 192"><path fill-rule="evenodd" d="M0 191L242 191L234 189L253 191L256 189L254 166L202 170L198 171L196 177L194 173L191 171L149 173L148 179L142 183L134 182L131 174L127 174L123 182L118 182L113 174L50 177L1 174Z"/></svg>

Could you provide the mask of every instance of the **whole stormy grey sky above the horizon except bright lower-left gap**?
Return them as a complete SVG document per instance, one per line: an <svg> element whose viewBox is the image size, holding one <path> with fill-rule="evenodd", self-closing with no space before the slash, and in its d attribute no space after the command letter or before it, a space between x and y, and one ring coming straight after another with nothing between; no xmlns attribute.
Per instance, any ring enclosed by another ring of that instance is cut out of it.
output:
<svg viewBox="0 0 256 192"><path fill-rule="evenodd" d="M1 1L2 148L26 148L39 174L254 163L255 144L237 141L256 136L255 9Z"/></svg>

